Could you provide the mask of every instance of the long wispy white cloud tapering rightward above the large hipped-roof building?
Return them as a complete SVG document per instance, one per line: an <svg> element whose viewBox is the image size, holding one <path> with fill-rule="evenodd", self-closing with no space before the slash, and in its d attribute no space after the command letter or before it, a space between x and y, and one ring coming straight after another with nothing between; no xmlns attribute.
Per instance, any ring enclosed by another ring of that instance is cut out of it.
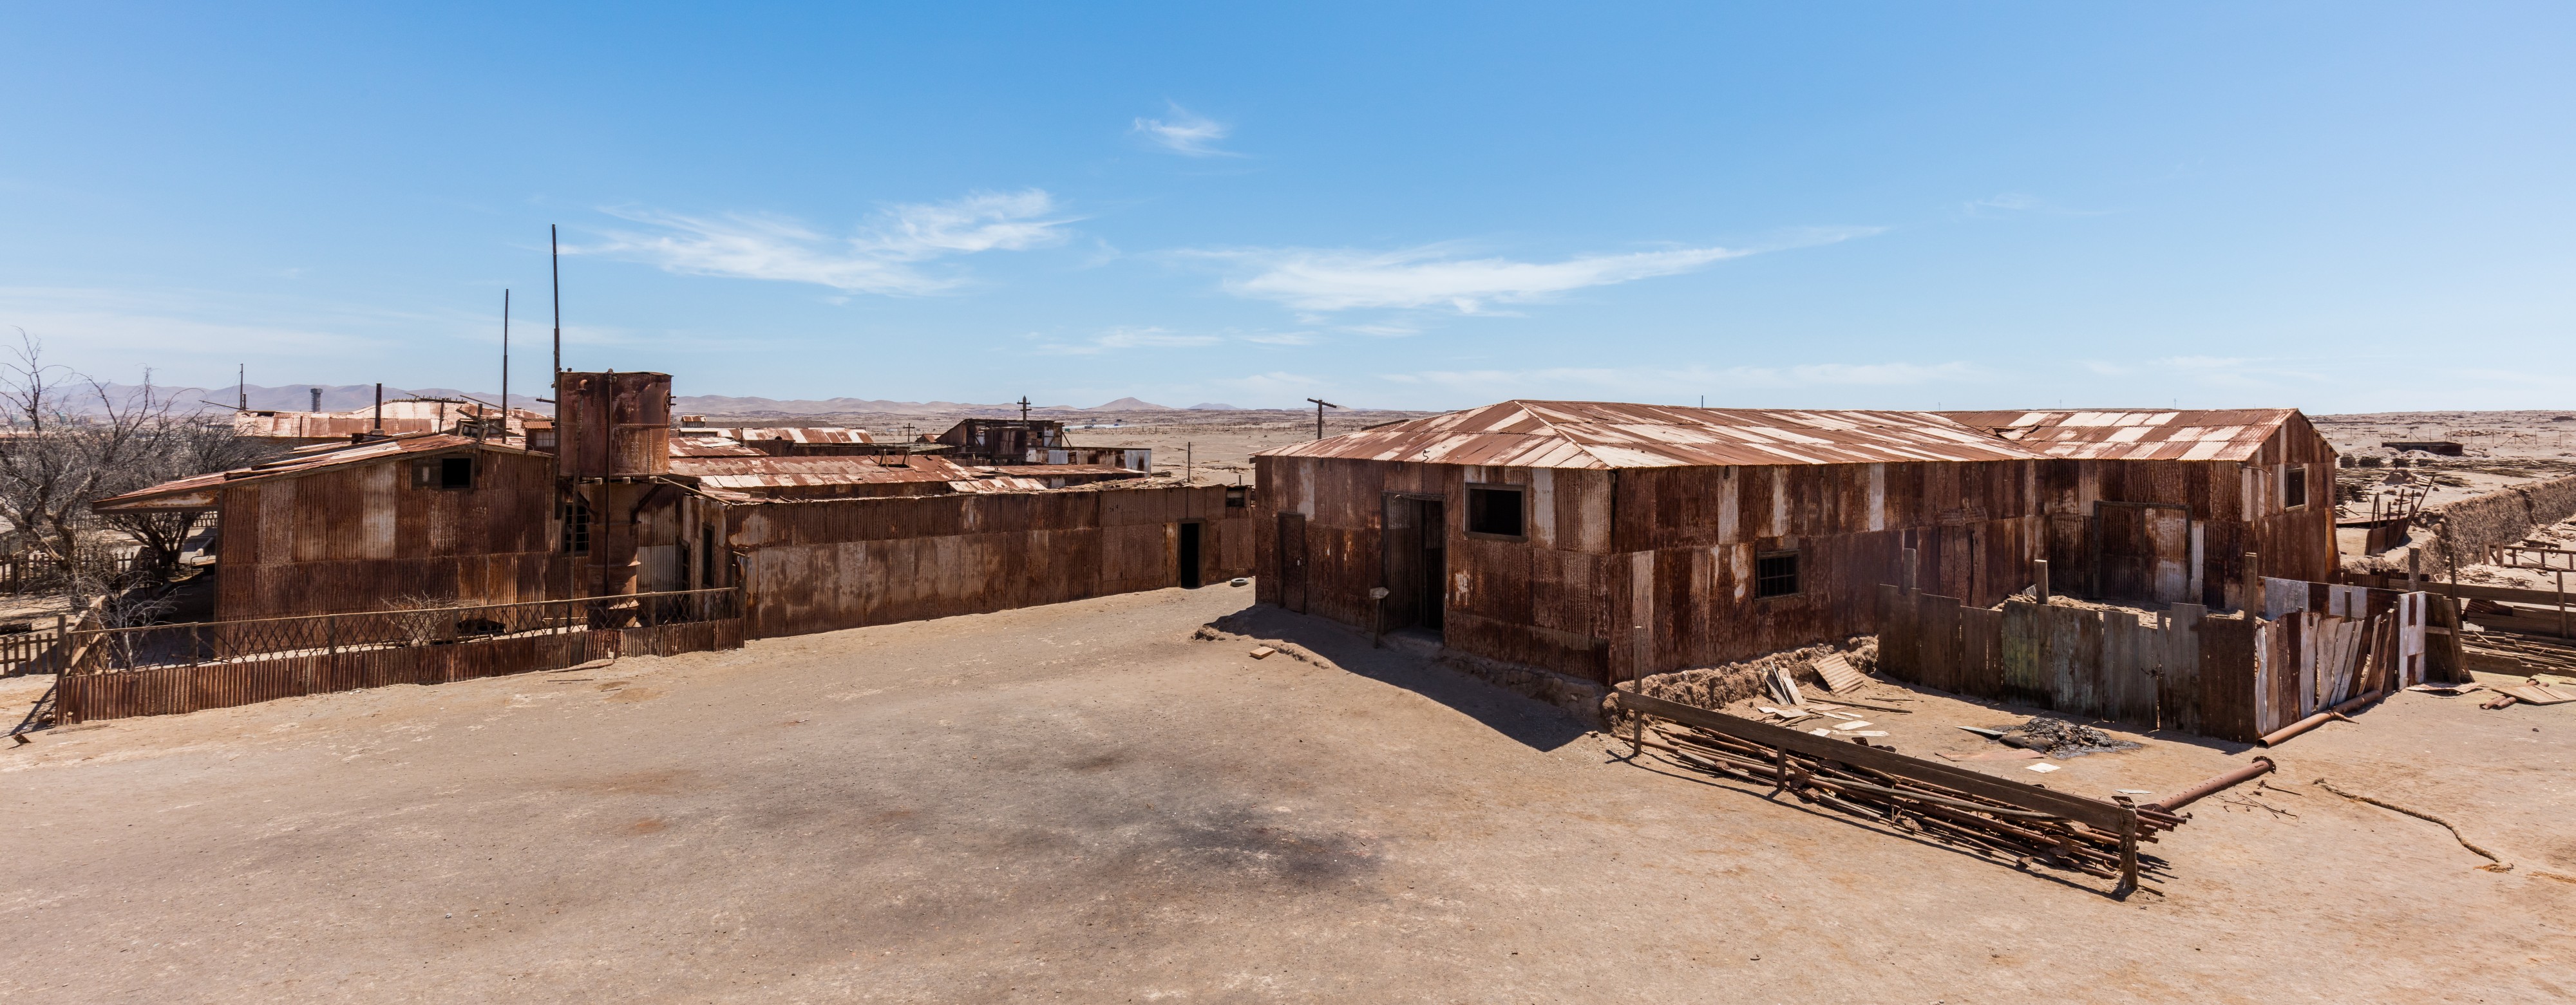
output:
<svg viewBox="0 0 2576 1005"><path fill-rule="evenodd" d="M1821 245L1878 229L1808 229L1788 245L1672 247L1628 255L1577 255L1553 263L1466 258L1461 245L1404 250L1244 247L1185 253L1234 265L1226 291L1303 312L1448 307L1486 314L1494 304L1528 304L1589 286L1680 276L1728 258L1777 247Z"/></svg>

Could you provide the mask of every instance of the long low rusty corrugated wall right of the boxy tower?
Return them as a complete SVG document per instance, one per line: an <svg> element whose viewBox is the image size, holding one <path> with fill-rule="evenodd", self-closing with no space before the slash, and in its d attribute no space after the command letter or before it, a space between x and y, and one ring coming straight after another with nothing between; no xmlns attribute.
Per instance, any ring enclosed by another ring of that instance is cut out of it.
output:
<svg viewBox="0 0 2576 1005"><path fill-rule="evenodd" d="M750 634L945 618L1180 585L1180 526L1200 526L1200 582L1252 572L1249 508L1226 487L997 492L734 505Z"/></svg>

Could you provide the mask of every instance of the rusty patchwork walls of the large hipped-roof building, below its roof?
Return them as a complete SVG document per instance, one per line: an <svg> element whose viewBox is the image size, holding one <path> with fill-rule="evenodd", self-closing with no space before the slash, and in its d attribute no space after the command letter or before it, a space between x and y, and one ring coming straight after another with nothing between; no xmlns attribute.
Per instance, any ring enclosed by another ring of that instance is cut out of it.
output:
<svg viewBox="0 0 2576 1005"><path fill-rule="evenodd" d="M2040 541L2030 461L1595 472L1262 456L1255 466L1260 600L1370 626L1388 495L1443 497L1445 644L1592 680L1873 631L1875 588L1901 577L1906 544L1927 590L1994 603L2030 585ZM1528 487L1528 541L1466 536L1471 482ZM1280 554L1280 513L1303 515L1303 598L1283 593L1283 562L1296 557ZM1801 593L1757 600L1754 557L1775 549L1801 554Z"/></svg>

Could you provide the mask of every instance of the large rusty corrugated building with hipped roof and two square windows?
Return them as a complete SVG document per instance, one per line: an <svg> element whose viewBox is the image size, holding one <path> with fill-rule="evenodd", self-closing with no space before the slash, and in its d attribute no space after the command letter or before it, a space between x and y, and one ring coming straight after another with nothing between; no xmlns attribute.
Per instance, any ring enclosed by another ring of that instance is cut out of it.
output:
<svg viewBox="0 0 2576 1005"><path fill-rule="evenodd" d="M2032 454L1929 412L1499 402L1255 456L1260 600L1615 683L2030 585ZM1383 588L1383 613L1370 598Z"/></svg>

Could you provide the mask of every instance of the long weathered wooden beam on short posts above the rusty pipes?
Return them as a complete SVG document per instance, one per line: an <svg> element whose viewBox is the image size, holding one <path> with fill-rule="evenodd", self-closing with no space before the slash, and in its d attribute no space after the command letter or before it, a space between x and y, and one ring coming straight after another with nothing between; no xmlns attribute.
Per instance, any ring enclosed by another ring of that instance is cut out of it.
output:
<svg viewBox="0 0 2576 1005"><path fill-rule="evenodd" d="M1615 691L1613 698L1620 704L1620 709L1633 711L1633 714L1643 714L1643 716L1654 716L1654 719L1667 719L1667 722L1677 722L1677 724L1708 732L1713 737L1726 737L1726 740L1734 740L1734 742L1749 742L1749 745L1757 745L1757 747L1777 750L1780 760L1775 765L1762 765L1762 768L1770 768L1770 776L1772 776L1772 781L1780 789L1788 789L1790 778L1798 776L1798 770L1788 760L1788 755L1795 752L1795 755L1816 758L1816 760L1824 760L1824 763L1839 763L1839 765L1850 765L1855 770L1868 770L1868 773L1873 773L1878 778L1886 778L1886 781L1922 783L1924 789L1937 789L1937 791L1945 791L1945 794L1984 799L1984 801L1994 801L1994 804L2017 809L2014 814L1994 814L1996 819L1981 819L1978 825L2002 825L1999 817L2063 819L2063 822L2074 825L2071 830L2079 838L2089 838L2089 835L2084 835L2084 830L2092 830L2094 835L2099 835L2105 840L2115 840L2117 843L2117 881L2120 881L2120 886L2115 889L2115 894L2128 894L2128 892L2138 889L2138 840L2141 840L2141 832L2148 825L2143 825L2138 819L2138 809L2133 809L2133 807L2123 807L2123 804L2112 804L2112 801L2102 801L2102 799L2071 796L2071 794L2040 789L2040 786L2032 786L2032 783L1994 778L1994 776L1976 773L1976 770L1968 770L1968 768L1950 768L1950 765L1932 763L1932 760L1917 760L1917 758L1906 758L1906 755L1899 755L1899 752L1886 750L1886 747L1870 747L1870 745L1857 745L1857 742L1837 742L1837 740L1816 737L1816 734L1798 732L1798 729L1783 729L1783 727L1772 727L1772 724L1765 724L1765 722L1728 716L1723 711L1710 711L1710 709L1700 709L1700 706L1685 706L1680 701L1664 701L1664 698L1641 696L1641 693L1633 693L1633 691L1625 691L1625 688ZM1643 740L1643 737L1638 737L1638 740ZM1736 768L1736 770L1754 773L1754 768ZM1808 783L1808 781L1821 781L1821 778L1801 778L1801 783ZM1834 781L1834 783L1837 786L1855 786L1852 781ZM1780 789L1775 789L1775 791L1780 791ZM1893 796L1888 796L1888 799L1914 801L1919 807L1917 809L1919 814L1922 814L1922 809L1929 809L1924 801L1919 801L1922 794L1906 794L1906 791L1886 789L1886 786L1868 786L1868 789L1893 791ZM1852 789L1842 789L1842 791L1852 791ZM1950 807L1942 807L1942 809L1950 809ZM1973 809L1991 814L1996 807L1973 807ZM2022 817L2022 814L2032 814L2032 817ZM1945 814L1922 814L1922 817L1940 819ZM1955 822L1950 822L1950 819L1942 819L1942 825L1955 827ZM2040 819L2032 819L2032 825L2040 825ZM2161 825L2161 822L2156 822L2156 825ZM1981 843L1984 840L1989 840L1989 838L1981 838ZM2056 838L2050 838L2050 840L2056 840ZM2081 856L2076 856L2071 845L2061 845L2058 853L2063 853L2071 861L2081 861ZM2110 853L2105 850L2105 858Z"/></svg>

